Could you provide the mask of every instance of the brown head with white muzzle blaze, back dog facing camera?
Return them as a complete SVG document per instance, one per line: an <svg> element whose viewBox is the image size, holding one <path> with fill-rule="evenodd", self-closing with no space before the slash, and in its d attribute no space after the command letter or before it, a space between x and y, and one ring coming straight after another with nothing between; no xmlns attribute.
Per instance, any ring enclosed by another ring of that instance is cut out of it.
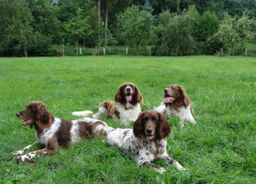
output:
<svg viewBox="0 0 256 184"><path fill-rule="evenodd" d="M142 94L133 83L124 83L120 85L116 92L115 102L125 104L127 101L133 106L143 101Z"/></svg>

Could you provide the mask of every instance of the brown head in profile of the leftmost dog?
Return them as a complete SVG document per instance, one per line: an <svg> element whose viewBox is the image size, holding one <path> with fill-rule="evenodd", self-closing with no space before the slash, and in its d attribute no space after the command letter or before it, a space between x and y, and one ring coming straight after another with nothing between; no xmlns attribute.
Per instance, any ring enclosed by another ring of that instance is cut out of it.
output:
<svg viewBox="0 0 256 184"><path fill-rule="evenodd" d="M24 120L22 124L24 126L33 125L39 131L44 128L49 127L52 124L52 115L46 108L45 104L40 101L32 101L27 106L26 109L16 113L19 119Z"/></svg>

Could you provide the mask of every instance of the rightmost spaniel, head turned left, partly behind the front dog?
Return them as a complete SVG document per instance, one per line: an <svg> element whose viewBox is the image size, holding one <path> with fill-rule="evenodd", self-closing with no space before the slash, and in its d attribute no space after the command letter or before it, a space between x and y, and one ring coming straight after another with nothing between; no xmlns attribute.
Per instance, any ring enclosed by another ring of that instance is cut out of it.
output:
<svg viewBox="0 0 256 184"><path fill-rule="evenodd" d="M164 89L164 104L155 108L156 111L169 117L180 117L181 124L191 122L197 124L193 118L192 102L182 86L169 85Z"/></svg>

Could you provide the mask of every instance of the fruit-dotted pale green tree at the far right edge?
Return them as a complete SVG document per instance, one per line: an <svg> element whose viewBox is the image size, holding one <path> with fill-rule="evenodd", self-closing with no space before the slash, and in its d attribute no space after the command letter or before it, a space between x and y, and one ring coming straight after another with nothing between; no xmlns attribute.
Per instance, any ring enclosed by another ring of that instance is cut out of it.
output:
<svg viewBox="0 0 256 184"><path fill-rule="evenodd" d="M228 56L230 56L235 43L240 44L240 48L244 49L247 43L252 42L256 37L255 29L256 21L249 19L246 12L241 18L226 15L220 25L219 31L214 35L224 44L230 45Z"/></svg>

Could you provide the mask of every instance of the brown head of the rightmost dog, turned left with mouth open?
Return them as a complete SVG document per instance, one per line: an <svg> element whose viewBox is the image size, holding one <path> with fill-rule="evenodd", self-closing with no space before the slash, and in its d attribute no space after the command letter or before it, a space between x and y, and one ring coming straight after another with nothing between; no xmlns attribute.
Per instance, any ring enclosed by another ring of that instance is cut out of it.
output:
<svg viewBox="0 0 256 184"><path fill-rule="evenodd" d="M190 106L192 103L185 93L182 86L169 85L164 89L164 103L167 106L168 103L173 102L174 106Z"/></svg>

